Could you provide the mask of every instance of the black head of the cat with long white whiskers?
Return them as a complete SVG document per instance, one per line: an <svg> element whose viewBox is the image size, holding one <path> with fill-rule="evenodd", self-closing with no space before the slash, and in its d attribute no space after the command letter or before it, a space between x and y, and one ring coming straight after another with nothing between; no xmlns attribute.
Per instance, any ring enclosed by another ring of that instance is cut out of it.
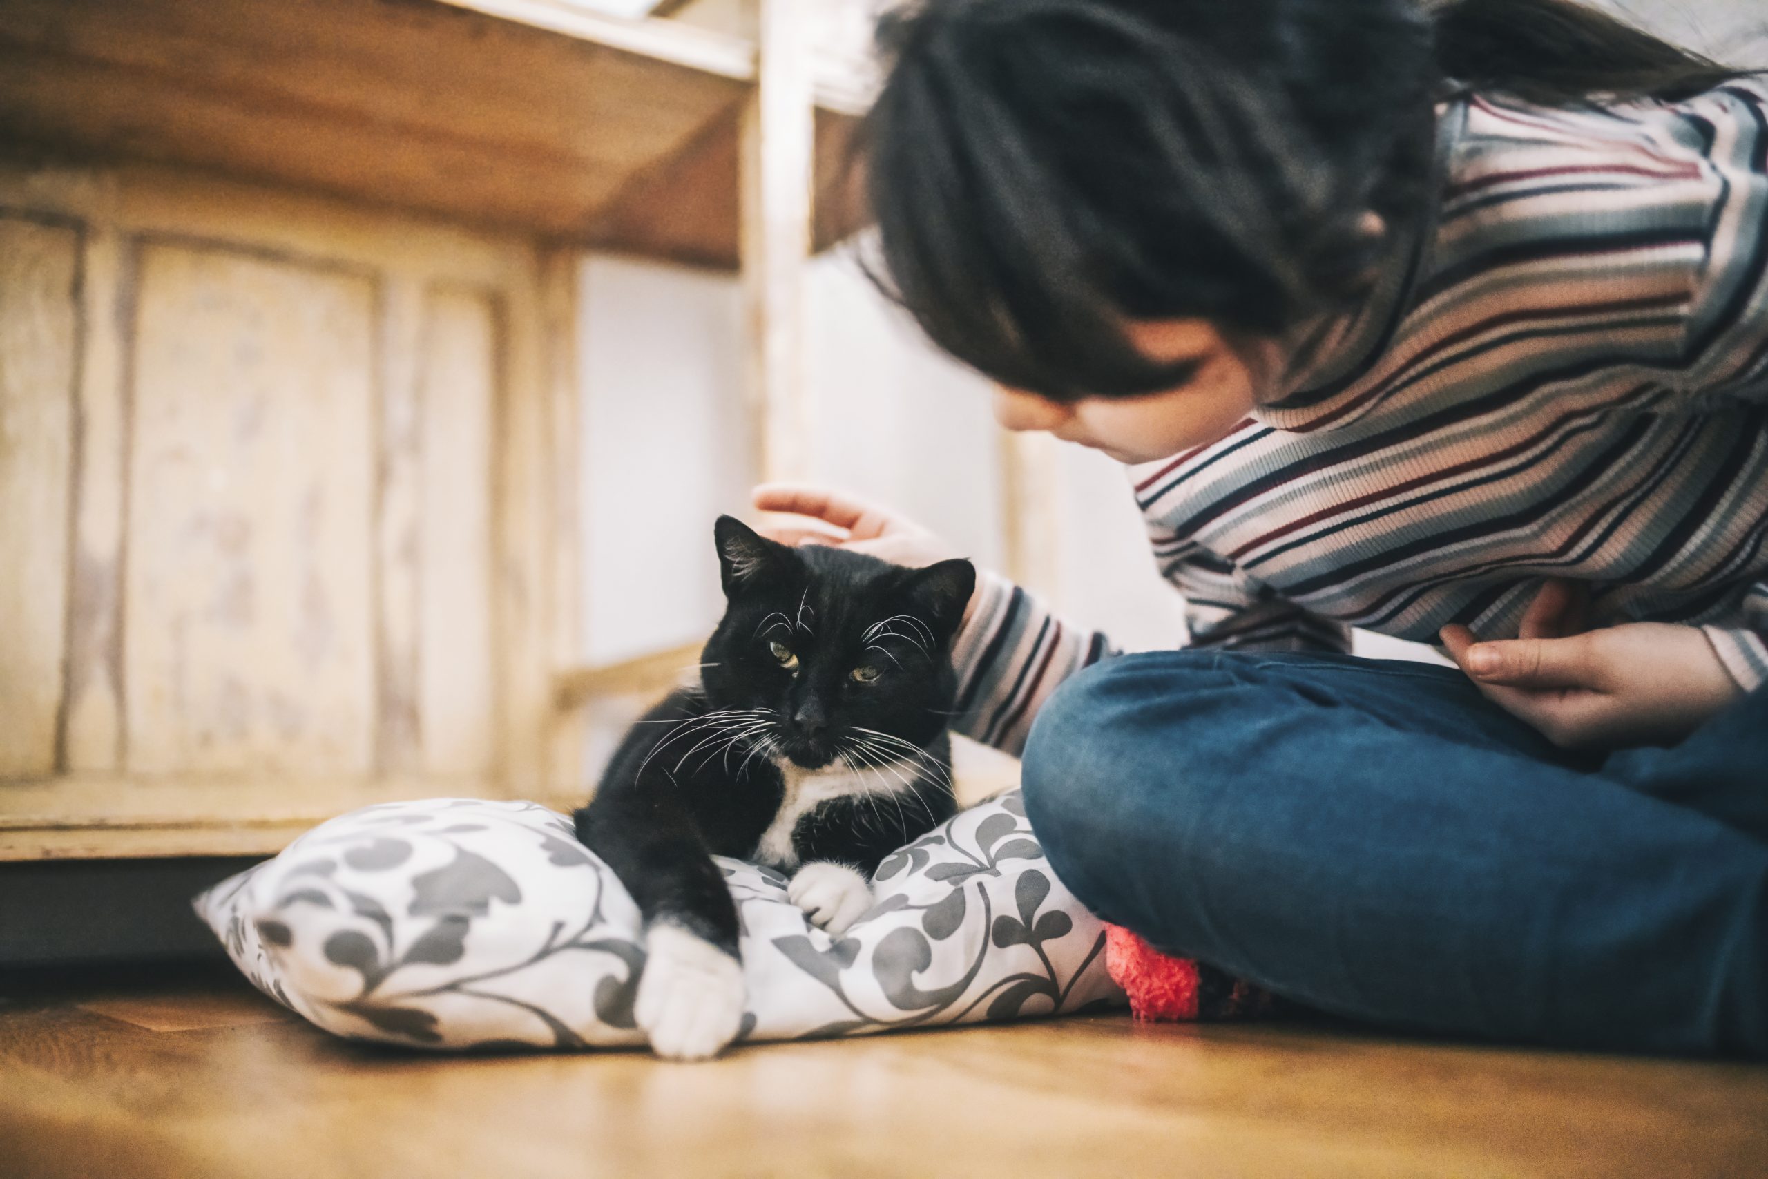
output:
<svg viewBox="0 0 1768 1179"><path fill-rule="evenodd" d="M705 643L714 709L751 709L751 735L803 769L912 757L951 721L951 635L976 569L893 566L778 544L732 516L714 527L725 617Z"/></svg>

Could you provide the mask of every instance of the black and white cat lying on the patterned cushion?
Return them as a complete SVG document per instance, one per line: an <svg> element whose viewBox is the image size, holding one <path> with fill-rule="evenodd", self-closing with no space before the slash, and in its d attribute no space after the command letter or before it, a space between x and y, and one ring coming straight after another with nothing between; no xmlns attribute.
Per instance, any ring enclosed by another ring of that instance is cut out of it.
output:
<svg viewBox="0 0 1768 1179"><path fill-rule="evenodd" d="M714 527L725 617L700 684L636 723L576 834L645 917L635 1018L661 1055L737 1034L737 910L713 856L789 873L829 933L872 907L879 863L956 810L946 734L967 560L925 569Z"/></svg>

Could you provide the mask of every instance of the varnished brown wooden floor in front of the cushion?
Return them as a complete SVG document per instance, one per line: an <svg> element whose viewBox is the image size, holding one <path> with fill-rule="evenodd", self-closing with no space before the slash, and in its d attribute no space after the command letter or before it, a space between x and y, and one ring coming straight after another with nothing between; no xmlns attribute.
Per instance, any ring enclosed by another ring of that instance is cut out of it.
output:
<svg viewBox="0 0 1768 1179"><path fill-rule="evenodd" d="M1100 1016L642 1053L332 1039L205 972L0 981L0 1174L1764 1175L1768 1068Z"/></svg>

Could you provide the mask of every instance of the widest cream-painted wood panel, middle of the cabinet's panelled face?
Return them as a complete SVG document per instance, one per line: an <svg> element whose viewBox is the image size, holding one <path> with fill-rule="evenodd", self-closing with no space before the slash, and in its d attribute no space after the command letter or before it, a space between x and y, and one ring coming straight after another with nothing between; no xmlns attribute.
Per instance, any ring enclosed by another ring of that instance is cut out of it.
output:
<svg viewBox="0 0 1768 1179"><path fill-rule="evenodd" d="M366 774L375 285L149 244L136 290L127 767Z"/></svg>

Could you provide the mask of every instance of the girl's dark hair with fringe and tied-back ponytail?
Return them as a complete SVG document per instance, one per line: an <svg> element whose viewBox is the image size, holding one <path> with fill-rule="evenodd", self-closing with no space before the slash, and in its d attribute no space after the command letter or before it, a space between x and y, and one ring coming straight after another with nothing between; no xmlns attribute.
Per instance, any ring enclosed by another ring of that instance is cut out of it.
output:
<svg viewBox="0 0 1768 1179"><path fill-rule="evenodd" d="M1429 200L1434 103L1687 97L1726 69L1575 0L911 0L859 150L873 278L1050 398L1181 384L1139 318L1275 336L1345 304Z"/></svg>

